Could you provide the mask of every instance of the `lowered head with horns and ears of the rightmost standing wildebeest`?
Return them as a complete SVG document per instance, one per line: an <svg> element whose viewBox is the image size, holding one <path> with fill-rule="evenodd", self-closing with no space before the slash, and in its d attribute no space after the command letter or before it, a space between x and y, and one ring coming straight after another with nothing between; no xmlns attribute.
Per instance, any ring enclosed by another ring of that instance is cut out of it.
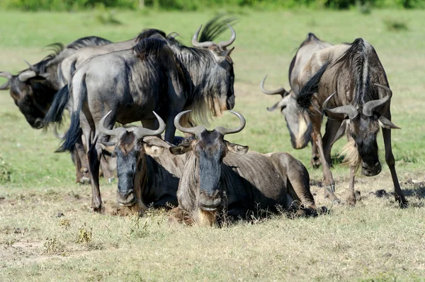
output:
<svg viewBox="0 0 425 282"><path fill-rule="evenodd" d="M381 171L381 165L378 158L378 142L376 141L376 136L380 127L385 129L399 129L399 127L390 122L389 119L375 111L377 107L390 101L392 91L387 86L382 86L377 83L375 83L375 86L384 89L387 95L378 100L365 102L363 107L359 109L353 105L344 105L329 109L327 104L335 93L330 95L323 103L323 110L328 113L346 114L347 119L344 119L343 124L341 124L335 140L339 139L346 129L348 129L349 134L351 134L354 141L356 141L358 155L361 158L362 172L363 175L366 176L378 175ZM358 162L358 165L360 165L360 162Z"/></svg>

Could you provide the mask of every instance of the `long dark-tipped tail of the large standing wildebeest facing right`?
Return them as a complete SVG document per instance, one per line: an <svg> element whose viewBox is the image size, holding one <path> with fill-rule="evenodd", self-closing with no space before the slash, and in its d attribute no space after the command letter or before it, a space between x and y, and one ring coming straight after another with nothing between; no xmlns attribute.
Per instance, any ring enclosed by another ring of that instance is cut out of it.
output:
<svg viewBox="0 0 425 282"><path fill-rule="evenodd" d="M86 75L84 74L82 76L77 87L75 87L74 89L71 83L69 83L69 86L71 88L70 90L73 91L73 95L74 95L74 105L72 106L71 124L69 125L69 129L63 138L62 145L59 148L57 148L56 150L57 152L64 152L64 151L72 152L74 150L75 143L77 143L79 137L81 136L79 117L80 117L81 109L83 108L83 105L84 105L84 101L87 98Z"/></svg>

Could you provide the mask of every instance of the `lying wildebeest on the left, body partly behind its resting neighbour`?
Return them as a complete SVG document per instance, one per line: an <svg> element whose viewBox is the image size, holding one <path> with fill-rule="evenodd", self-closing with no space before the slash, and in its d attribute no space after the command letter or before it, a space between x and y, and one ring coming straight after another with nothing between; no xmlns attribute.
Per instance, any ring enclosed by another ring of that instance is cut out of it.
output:
<svg viewBox="0 0 425 282"><path fill-rule="evenodd" d="M107 136L115 136L116 142L101 143L103 151L117 158L117 201L131 206L132 211L146 211L147 206L177 206L176 192L186 156L172 155L171 147L155 135L162 134L165 123L159 121L159 129L143 127L105 127L111 111L99 122L98 129Z"/></svg>

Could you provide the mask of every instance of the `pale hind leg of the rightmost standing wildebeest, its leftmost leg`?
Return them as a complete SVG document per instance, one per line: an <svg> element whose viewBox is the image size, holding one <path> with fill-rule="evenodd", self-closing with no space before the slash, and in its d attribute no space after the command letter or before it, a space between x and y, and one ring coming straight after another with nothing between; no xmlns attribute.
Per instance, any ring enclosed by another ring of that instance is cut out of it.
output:
<svg viewBox="0 0 425 282"><path fill-rule="evenodd" d="M334 177L332 177L331 169L326 161L323 151L323 143L322 143L322 134L320 134L320 127L322 125L322 117L320 114L315 114L314 116L310 116L312 120L313 127L313 142L316 143L317 149L319 150L320 160L322 162L322 170L324 177L324 198L330 198L332 201L340 202L339 199L335 196L335 182Z"/></svg>

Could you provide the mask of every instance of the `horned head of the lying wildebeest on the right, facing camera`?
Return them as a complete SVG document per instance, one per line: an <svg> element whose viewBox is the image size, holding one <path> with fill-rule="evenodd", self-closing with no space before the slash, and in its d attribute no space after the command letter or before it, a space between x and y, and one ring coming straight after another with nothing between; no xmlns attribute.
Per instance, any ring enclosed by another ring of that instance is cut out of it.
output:
<svg viewBox="0 0 425 282"><path fill-rule="evenodd" d="M208 131L203 126L186 128L182 127L179 119L188 111L181 112L174 119L174 125L180 131L196 135L193 139L179 146L171 147L171 153L175 155L192 152L192 158L196 158L198 163L198 187L196 198L198 206L203 211L217 211L222 204L222 185L220 185L222 160L227 153L244 154L248 151L248 146L242 146L225 141L225 134L234 134L242 131L245 127L245 119L242 114L232 112L239 117L240 125L237 129L226 129L225 127L216 127Z"/></svg>

